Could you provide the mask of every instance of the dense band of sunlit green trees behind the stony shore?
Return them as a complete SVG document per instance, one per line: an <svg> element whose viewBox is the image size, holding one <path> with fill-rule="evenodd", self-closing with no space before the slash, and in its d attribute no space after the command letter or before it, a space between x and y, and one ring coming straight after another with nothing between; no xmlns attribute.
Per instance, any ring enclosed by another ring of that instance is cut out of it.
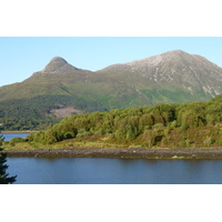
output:
<svg viewBox="0 0 222 222"><path fill-rule="evenodd" d="M222 122L222 95L206 103L157 104L71 115L30 139L51 144L74 137L110 134L117 142L140 139L152 147L167 141L172 129L186 131ZM167 143L165 143L167 144Z"/></svg>

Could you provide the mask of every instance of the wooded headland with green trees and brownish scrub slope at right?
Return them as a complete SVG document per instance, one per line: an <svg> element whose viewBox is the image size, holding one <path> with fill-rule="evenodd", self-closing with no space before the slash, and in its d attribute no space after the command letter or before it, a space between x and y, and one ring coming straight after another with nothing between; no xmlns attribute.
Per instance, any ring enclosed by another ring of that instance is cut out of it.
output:
<svg viewBox="0 0 222 222"><path fill-rule="evenodd" d="M222 95L209 102L157 104L74 114L29 135L31 143L99 139L145 148L222 145Z"/></svg>

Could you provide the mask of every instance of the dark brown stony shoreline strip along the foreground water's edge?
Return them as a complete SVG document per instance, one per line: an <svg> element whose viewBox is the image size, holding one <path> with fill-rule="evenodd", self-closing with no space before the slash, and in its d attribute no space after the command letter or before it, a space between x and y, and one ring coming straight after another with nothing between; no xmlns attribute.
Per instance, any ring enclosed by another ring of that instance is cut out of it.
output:
<svg viewBox="0 0 222 222"><path fill-rule="evenodd" d="M120 158L120 159L222 159L222 148L145 149L145 148L63 148L4 150L8 158Z"/></svg>

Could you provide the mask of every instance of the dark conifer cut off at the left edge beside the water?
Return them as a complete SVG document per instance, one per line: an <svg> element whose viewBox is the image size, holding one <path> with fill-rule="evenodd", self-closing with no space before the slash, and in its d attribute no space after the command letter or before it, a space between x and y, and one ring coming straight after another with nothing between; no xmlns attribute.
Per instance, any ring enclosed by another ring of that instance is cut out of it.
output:
<svg viewBox="0 0 222 222"><path fill-rule="evenodd" d="M0 135L0 147L3 143L3 137ZM8 169L7 162L7 153L2 152L3 149L0 148L0 184L9 184L16 182L16 176L8 176L9 174L6 172Z"/></svg>

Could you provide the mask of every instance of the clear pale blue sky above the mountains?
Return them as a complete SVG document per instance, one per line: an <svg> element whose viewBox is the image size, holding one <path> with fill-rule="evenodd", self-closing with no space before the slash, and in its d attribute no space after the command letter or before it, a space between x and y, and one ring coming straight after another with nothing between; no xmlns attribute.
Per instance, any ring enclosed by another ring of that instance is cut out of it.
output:
<svg viewBox="0 0 222 222"><path fill-rule="evenodd" d="M0 85L23 81L53 57L91 71L184 50L222 67L221 37L0 37Z"/></svg>

